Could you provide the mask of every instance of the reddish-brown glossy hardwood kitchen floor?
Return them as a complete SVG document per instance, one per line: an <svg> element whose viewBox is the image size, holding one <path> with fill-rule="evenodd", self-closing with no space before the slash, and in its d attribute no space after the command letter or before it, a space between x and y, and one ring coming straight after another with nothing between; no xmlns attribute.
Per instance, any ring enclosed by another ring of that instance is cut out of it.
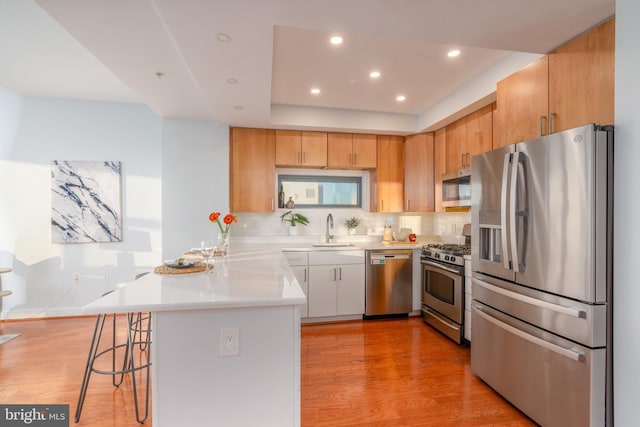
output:
<svg viewBox="0 0 640 427"><path fill-rule="evenodd" d="M73 418L94 322L0 322L21 334L0 345L0 402L69 404ZM303 427L534 425L473 375L468 348L419 318L304 325L301 382ZM94 375L78 425L139 425L129 379Z"/></svg>

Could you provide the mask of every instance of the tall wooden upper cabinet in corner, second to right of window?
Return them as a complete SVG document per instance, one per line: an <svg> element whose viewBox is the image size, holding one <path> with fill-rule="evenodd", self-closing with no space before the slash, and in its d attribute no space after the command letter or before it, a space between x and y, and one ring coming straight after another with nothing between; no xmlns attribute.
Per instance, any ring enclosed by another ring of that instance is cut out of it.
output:
<svg viewBox="0 0 640 427"><path fill-rule="evenodd" d="M434 210L433 133L409 135L404 140L404 210Z"/></svg>

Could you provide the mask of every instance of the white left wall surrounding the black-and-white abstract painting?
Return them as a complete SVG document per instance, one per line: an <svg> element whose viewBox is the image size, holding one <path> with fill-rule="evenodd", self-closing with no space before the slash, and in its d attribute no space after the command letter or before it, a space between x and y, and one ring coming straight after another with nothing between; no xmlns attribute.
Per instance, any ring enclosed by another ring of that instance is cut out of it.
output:
<svg viewBox="0 0 640 427"><path fill-rule="evenodd" d="M146 106L0 92L1 318L78 314L160 260L161 120ZM52 160L122 162L123 241L51 243ZM77 280L76 280L77 278Z"/></svg>

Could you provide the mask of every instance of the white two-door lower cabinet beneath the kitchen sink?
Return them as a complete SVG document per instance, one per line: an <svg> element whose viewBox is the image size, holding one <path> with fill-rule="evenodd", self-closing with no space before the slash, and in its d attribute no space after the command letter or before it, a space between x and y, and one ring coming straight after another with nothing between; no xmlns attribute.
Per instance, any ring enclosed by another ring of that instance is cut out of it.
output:
<svg viewBox="0 0 640 427"><path fill-rule="evenodd" d="M364 313L364 251L309 253L309 317Z"/></svg>

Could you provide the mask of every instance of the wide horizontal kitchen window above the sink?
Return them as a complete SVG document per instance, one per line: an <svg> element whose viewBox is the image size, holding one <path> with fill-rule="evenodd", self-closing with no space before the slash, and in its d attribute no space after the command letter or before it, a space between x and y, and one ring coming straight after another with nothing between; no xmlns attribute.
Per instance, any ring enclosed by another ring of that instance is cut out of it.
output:
<svg viewBox="0 0 640 427"><path fill-rule="evenodd" d="M278 191L296 208L361 208L362 177L279 175Z"/></svg>

